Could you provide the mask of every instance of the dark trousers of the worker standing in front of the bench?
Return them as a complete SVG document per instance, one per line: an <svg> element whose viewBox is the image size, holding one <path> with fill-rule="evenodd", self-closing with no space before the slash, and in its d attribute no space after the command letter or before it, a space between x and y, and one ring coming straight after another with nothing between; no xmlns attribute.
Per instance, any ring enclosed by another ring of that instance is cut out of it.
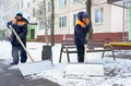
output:
<svg viewBox="0 0 131 86"><path fill-rule="evenodd" d="M78 61L84 62L84 45L76 45Z"/></svg>

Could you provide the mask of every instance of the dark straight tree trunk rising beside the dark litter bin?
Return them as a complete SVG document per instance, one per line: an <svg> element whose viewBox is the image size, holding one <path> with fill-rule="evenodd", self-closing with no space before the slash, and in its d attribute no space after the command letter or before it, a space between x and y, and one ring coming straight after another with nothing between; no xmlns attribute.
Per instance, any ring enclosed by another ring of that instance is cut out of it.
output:
<svg viewBox="0 0 131 86"><path fill-rule="evenodd" d="M51 29L50 29L50 41L51 46L55 46L55 0L51 0Z"/></svg>

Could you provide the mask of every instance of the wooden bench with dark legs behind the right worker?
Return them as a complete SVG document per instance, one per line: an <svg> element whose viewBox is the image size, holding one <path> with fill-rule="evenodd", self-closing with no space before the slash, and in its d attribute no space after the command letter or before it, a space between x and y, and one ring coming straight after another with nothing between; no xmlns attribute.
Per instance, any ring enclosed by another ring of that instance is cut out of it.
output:
<svg viewBox="0 0 131 86"><path fill-rule="evenodd" d="M114 60L116 60L114 49L106 48L104 46L105 46L105 44L103 41L91 41L87 44L86 52L103 52L103 54L102 54L102 59L103 59L105 51L111 51ZM67 53L68 62L70 62L69 53L76 53L76 52L78 52L76 47L75 47L73 40L62 40L59 62L61 62L62 53Z"/></svg>

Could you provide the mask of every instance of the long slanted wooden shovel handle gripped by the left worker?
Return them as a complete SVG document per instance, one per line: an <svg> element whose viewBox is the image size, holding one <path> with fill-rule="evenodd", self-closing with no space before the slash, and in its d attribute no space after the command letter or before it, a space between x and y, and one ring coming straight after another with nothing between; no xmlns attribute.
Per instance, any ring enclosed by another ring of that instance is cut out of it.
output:
<svg viewBox="0 0 131 86"><path fill-rule="evenodd" d="M14 33L14 35L16 36L16 39L20 41L21 46L23 47L23 49L26 51L26 53L28 54L29 59L32 62L34 62L34 59L32 58L31 53L28 52L28 50L25 48L24 44L22 42L22 40L20 39L19 35L16 34L16 32L14 30L14 28L12 26L10 26L10 28L12 29L12 32Z"/></svg>

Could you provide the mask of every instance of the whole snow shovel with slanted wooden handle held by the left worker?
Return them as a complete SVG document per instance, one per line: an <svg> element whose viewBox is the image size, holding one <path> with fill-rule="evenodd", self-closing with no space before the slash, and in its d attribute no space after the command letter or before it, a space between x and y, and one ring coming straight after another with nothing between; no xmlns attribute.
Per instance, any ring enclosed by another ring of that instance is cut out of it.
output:
<svg viewBox="0 0 131 86"><path fill-rule="evenodd" d="M12 26L9 26L9 27L12 29L12 32L16 36L17 40L20 41L21 46L26 51L26 53L28 54L28 58L32 61L32 62L28 62L28 63L19 64L19 69L21 71L21 73L23 74L23 76L37 74L37 73L40 73L43 71L50 70L50 69L53 67L49 61L37 61L37 62L35 62L33 57L31 56L31 53L28 52L28 50L26 49L26 47L24 46L24 44L20 39L15 29Z"/></svg>

